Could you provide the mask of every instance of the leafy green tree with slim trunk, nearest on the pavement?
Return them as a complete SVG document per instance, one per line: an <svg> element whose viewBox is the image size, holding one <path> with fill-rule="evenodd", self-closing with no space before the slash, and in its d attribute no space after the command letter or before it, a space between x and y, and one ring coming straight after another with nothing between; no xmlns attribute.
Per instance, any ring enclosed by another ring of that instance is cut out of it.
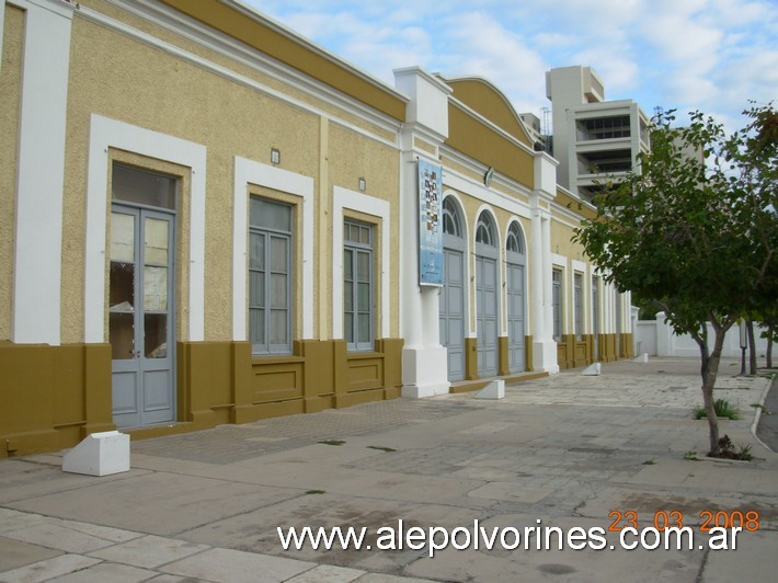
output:
<svg viewBox="0 0 778 583"><path fill-rule="evenodd" d="M659 114L651 150L619 183L603 185L596 218L574 236L607 281L653 301L698 344L716 457L724 334L740 317L775 306L778 289L778 117L771 103L743 113L747 124L731 135L699 112L686 127L673 127L673 111Z"/></svg>

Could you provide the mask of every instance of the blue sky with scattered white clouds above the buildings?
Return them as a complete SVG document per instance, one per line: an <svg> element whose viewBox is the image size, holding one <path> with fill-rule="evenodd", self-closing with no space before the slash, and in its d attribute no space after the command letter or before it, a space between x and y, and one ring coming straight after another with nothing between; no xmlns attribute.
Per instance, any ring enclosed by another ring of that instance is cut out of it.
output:
<svg viewBox="0 0 778 583"><path fill-rule="evenodd" d="M480 76L519 112L550 107L545 72L591 66L606 100L700 110L734 129L778 98L778 0L243 0L393 84L392 69Z"/></svg>

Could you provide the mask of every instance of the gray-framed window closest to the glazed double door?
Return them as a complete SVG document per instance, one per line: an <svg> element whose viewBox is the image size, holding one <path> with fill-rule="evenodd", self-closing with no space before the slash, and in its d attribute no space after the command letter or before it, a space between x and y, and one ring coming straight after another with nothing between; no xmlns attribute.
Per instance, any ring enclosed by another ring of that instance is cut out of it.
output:
<svg viewBox="0 0 778 583"><path fill-rule="evenodd" d="M291 207L251 197L249 339L254 354L291 354Z"/></svg>

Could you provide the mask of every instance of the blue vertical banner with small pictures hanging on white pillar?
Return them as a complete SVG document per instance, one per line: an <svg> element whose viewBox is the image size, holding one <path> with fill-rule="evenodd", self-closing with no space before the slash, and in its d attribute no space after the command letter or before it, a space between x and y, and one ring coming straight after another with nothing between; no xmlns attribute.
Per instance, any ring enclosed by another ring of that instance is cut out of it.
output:
<svg viewBox="0 0 778 583"><path fill-rule="evenodd" d="M419 285L443 285L443 168L419 160Z"/></svg>

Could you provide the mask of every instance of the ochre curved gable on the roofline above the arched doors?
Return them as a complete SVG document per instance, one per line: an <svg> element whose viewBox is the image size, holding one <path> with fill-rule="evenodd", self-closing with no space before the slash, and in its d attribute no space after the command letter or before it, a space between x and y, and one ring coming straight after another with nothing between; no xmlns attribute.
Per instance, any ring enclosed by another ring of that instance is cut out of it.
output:
<svg viewBox="0 0 778 583"><path fill-rule="evenodd" d="M444 81L454 90L456 100L494 123L520 142L533 147L533 139L516 110L492 83L478 77L444 79Z"/></svg>

